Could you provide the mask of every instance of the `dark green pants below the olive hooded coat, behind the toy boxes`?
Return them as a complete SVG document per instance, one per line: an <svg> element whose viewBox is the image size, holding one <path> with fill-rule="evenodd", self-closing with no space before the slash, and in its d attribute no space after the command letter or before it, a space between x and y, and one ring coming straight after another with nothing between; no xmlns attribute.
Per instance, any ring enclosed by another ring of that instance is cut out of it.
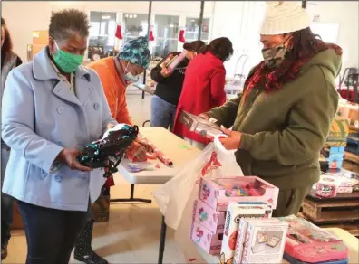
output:
<svg viewBox="0 0 359 264"><path fill-rule="evenodd" d="M292 190L279 190L277 209L273 212L273 217L297 214L312 185Z"/></svg>

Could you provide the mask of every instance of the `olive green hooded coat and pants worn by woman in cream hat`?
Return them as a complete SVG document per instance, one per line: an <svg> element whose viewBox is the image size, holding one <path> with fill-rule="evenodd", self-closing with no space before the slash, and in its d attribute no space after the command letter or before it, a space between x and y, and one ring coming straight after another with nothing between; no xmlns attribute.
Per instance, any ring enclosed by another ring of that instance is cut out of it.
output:
<svg viewBox="0 0 359 264"><path fill-rule="evenodd" d="M245 102L239 95L207 113L242 133L236 157L243 173L279 188L274 215L298 212L319 179L319 152L338 107L335 77L341 65L334 50L318 52L281 90L266 93L258 86Z"/></svg>

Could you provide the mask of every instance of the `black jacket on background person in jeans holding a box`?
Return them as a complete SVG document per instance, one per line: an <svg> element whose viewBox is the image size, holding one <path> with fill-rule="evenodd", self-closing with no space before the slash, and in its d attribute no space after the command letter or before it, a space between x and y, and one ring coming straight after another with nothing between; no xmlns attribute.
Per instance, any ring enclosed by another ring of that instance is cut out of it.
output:
<svg viewBox="0 0 359 264"><path fill-rule="evenodd" d="M179 55L180 52L171 52L174 56ZM168 54L160 63L162 63L168 56ZM182 85L186 73L186 68L189 65L189 60L186 58L179 63L179 66L172 72L172 74L164 78L161 74L160 63L150 71L150 78L156 81L157 87L155 95L161 99L169 102L172 105L177 106L179 103L180 92L182 91Z"/></svg>

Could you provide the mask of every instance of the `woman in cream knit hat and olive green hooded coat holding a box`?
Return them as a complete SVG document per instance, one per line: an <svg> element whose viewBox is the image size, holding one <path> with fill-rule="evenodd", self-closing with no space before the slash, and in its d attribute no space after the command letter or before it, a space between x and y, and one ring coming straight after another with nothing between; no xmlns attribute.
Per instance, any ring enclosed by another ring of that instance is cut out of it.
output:
<svg viewBox="0 0 359 264"><path fill-rule="evenodd" d="M250 71L244 91L202 118L216 118L237 149L245 175L279 188L274 216L297 213L319 179L319 152L335 118L335 77L342 50L322 42L296 2L271 2L262 25L263 57ZM225 127L232 127L231 130Z"/></svg>

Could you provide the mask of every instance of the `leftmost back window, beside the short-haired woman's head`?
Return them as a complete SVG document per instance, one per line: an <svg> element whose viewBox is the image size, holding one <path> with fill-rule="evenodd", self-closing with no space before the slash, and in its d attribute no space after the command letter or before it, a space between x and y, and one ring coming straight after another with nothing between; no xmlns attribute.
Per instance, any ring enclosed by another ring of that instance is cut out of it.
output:
<svg viewBox="0 0 359 264"><path fill-rule="evenodd" d="M89 51L94 47L101 47L103 55L112 52L115 44L116 13L90 12L90 40Z"/></svg>

